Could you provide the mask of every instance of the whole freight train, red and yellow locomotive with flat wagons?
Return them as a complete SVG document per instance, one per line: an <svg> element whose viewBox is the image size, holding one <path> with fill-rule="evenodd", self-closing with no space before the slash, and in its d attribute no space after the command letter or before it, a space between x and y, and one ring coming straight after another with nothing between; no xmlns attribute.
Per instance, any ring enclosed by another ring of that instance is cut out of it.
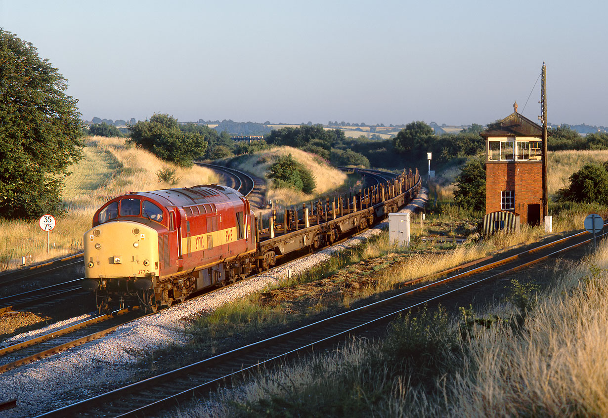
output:
<svg viewBox="0 0 608 418"><path fill-rule="evenodd" d="M84 235L83 289L100 312L151 312L274 266L278 257L335 242L396 211L420 190L418 171L356 196L272 214L268 228L241 193L221 185L131 192L93 216Z"/></svg>

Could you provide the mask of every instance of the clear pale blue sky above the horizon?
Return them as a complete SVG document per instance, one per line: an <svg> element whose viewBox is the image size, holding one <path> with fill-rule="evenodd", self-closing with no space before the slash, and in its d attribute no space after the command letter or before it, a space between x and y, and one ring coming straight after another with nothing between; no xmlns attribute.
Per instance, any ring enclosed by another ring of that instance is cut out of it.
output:
<svg viewBox="0 0 608 418"><path fill-rule="evenodd" d="M606 1L15 1L83 118L608 126Z"/></svg>

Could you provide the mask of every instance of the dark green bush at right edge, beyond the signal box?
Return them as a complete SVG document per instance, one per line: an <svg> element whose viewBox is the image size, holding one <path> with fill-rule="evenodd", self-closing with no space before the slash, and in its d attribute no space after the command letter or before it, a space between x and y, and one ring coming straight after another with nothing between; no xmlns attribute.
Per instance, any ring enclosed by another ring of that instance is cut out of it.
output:
<svg viewBox="0 0 608 418"><path fill-rule="evenodd" d="M586 164L570 176L570 185L558 191L561 201L608 205L608 171L604 165Z"/></svg>

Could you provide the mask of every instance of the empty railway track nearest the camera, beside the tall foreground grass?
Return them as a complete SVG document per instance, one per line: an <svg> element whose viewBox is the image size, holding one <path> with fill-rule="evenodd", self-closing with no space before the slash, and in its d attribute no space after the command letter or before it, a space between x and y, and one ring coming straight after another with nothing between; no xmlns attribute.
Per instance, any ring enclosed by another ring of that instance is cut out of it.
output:
<svg viewBox="0 0 608 418"><path fill-rule="evenodd" d="M480 261L466 271L435 275L429 283L423 279L398 295L348 310L272 338L248 344L142 382L101 394L40 417L71 416L146 416L159 413L179 402L198 399L219 385L240 380L258 368L276 365L278 361L325 349L344 341L350 335L378 329L403 312L426 303L437 303L468 292L491 281L544 259L567 252L592 241L589 233L577 233L494 262Z"/></svg>

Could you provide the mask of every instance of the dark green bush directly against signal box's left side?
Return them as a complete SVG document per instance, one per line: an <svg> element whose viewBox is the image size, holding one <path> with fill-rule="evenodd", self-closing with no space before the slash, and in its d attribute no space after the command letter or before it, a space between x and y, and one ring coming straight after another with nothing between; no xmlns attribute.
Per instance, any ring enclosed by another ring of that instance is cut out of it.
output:
<svg viewBox="0 0 608 418"><path fill-rule="evenodd" d="M461 208L483 211L486 207L486 168L481 159L470 160L456 177L454 200Z"/></svg>

